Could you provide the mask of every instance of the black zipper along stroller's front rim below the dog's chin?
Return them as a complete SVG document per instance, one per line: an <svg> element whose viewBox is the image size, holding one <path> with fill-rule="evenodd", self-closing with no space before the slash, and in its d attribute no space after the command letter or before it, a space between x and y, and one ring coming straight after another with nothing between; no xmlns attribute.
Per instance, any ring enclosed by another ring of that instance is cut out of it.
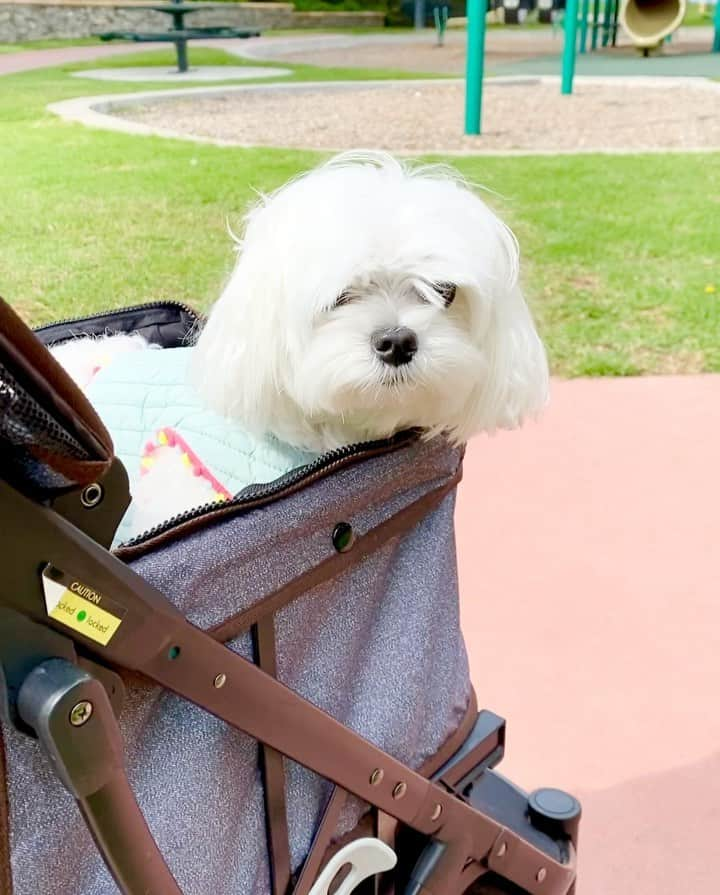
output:
<svg viewBox="0 0 720 895"><path fill-rule="evenodd" d="M178 513L158 525L149 528L147 531L136 535L129 541L119 544L116 549L130 549L139 547L152 538L165 535L173 528L184 525L186 522L193 522L203 517L210 518L215 513L225 514L228 509L254 509L257 506L268 503L271 500L283 497L291 491L294 491L300 485L309 485L315 479L327 475L329 472L347 466L350 463L361 460L365 457L378 456L379 454L390 453L401 447L411 444L419 437L419 433L415 430L408 430L393 435L392 438L385 438L379 441L363 441L357 444L347 445L346 447L335 448L322 454L311 463L300 466L291 470L279 479L275 479L267 484L249 485L231 500L218 503L211 501L201 504L191 510Z"/></svg>

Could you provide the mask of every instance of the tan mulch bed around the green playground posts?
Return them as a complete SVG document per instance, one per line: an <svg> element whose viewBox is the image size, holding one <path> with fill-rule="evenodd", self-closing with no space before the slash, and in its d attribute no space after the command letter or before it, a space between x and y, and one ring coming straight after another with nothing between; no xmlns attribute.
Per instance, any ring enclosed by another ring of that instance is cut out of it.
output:
<svg viewBox="0 0 720 895"><path fill-rule="evenodd" d="M293 90L248 89L128 106L153 128L238 145L396 152L589 151L720 148L720 87L579 80L486 82L484 133L462 133L461 82L385 82Z"/></svg>

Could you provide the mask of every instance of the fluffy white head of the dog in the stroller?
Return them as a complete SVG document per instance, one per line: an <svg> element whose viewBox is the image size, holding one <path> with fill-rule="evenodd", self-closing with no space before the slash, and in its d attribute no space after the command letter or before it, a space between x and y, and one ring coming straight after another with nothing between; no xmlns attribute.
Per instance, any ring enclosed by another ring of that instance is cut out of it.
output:
<svg viewBox="0 0 720 895"><path fill-rule="evenodd" d="M459 177L344 154L264 198L200 335L206 399L322 449L518 425L547 363L515 238Z"/></svg>

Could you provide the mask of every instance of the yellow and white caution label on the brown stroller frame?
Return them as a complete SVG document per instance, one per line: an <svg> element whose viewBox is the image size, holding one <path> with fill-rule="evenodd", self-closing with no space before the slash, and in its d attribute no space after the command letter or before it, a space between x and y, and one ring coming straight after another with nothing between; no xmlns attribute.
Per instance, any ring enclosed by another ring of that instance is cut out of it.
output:
<svg viewBox="0 0 720 895"><path fill-rule="evenodd" d="M71 580L68 587L68 582L62 580L65 578L67 576L57 569L47 568L43 573L48 616L89 640L107 646L122 624L124 611L78 581ZM102 608L100 603L107 608Z"/></svg>

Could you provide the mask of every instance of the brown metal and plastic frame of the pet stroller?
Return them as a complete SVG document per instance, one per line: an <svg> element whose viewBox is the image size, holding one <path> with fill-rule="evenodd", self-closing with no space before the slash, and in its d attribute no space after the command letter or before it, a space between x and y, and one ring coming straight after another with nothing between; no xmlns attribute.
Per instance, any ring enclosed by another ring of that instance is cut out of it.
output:
<svg viewBox="0 0 720 895"><path fill-rule="evenodd" d="M404 895L460 895L473 885L574 890L579 804L558 790L528 797L490 770L503 754L502 719L480 712L428 780L275 679L271 615L255 623L253 665L109 551L129 502L125 470L90 405L5 303L0 462L0 554L12 558L0 580L0 711L41 742L121 892L181 895L124 770L117 671L139 673L263 744L266 793L275 787L266 795L272 895L308 895L347 794L368 803L376 822L397 822L394 885ZM112 636L89 640L51 618L48 582L90 594L116 626ZM296 878L277 811L281 756L334 784ZM0 842L0 879L3 857Z"/></svg>

